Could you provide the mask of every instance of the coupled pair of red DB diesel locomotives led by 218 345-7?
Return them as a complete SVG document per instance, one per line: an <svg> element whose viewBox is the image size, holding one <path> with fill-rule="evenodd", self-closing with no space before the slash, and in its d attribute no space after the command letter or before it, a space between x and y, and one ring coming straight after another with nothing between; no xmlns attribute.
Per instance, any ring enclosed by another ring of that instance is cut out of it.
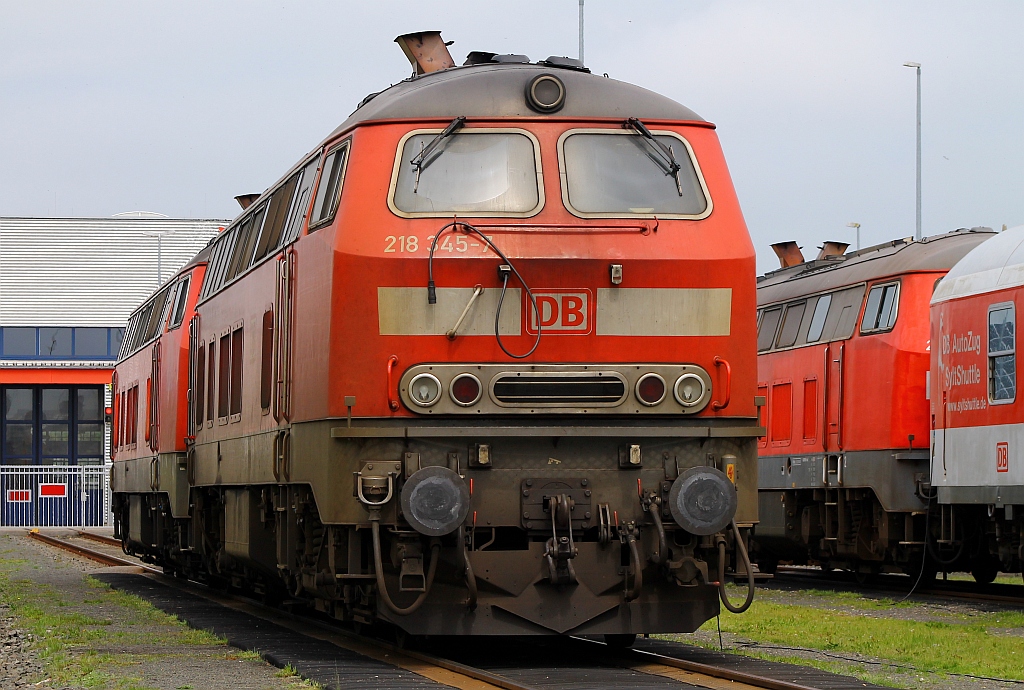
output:
<svg viewBox="0 0 1024 690"><path fill-rule="evenodd" d="M762 432L714 126L569 58L398 42L414 77L132 315L117 533L411 634L695 630Z"/></svg>

